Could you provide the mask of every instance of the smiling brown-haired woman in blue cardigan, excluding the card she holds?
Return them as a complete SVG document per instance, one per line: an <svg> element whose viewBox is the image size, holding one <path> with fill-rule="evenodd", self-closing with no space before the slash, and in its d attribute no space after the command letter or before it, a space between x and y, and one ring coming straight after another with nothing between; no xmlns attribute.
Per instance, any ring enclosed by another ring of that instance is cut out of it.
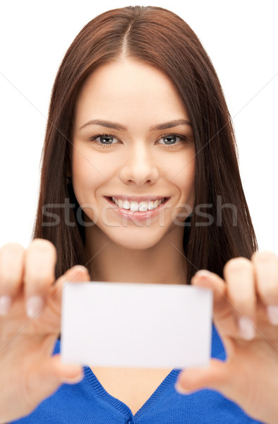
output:
<svg viewBox="0 0 278 424"><path fill-rule="evenodd" d="M54 83L34 240L1 248L0 423L276 423L278 259L257 249L196 35L158 7L97 16ZM211 288L210 367L60 363L62 284L90 280Z"/></svg>

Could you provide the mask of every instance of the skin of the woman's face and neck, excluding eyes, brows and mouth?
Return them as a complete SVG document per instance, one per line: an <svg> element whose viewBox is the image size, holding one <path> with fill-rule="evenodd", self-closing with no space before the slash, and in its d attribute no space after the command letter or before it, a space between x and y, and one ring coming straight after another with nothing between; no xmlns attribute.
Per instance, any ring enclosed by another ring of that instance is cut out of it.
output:
<svg viewBox="0 0 278 424"><path fill-rule="evenodd" d="M91 124L105 119L125 131ZM174 119L189 121L173 83L162 72L130 59L105 64L87 78L75 105L71 177L75 196L84 208L87 257L97 281L184 283L186 261L181 221L193 209L195 145L189 125L150 131ZM114 134L113 144L90 140ZM173 146L163 136L176 133ZM101 145L102 143L102 145ZM178 173L179 171L179 173ZM151 221L124 222L104 196L128 194L170 197ZM180 215L183 213L183 219ZM180 225L177 225L179 223ZM173 246L174 245L174 246ZM105 248L103 249L103 247ZM128 257L128 261L126 261Z"/></svg>

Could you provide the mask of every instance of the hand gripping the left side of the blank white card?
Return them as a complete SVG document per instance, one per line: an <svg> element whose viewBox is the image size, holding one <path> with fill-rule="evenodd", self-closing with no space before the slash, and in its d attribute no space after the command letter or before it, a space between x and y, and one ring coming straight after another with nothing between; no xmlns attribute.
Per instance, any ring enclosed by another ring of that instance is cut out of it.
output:
<svg viewBox="0 0 278 424"><path fill-rule="evenodd" d="M73 266L55 282L56 249L33 240L27 249L0 249L0 424L32 412L61 384L79 382L79 365L52 355L61 330L65 281L90 281L84 266Z"/></svg>

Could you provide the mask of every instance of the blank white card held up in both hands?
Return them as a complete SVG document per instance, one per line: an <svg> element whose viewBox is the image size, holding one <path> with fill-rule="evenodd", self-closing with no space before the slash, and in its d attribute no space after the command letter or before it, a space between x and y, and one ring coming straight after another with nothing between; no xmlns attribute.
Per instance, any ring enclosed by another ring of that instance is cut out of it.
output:
<svg viewBox="0 0 278 424"><path fill-rule="evenodd" d="M87 366L207 366L212 290L191 285L65 283L61 360Z"/></svg>

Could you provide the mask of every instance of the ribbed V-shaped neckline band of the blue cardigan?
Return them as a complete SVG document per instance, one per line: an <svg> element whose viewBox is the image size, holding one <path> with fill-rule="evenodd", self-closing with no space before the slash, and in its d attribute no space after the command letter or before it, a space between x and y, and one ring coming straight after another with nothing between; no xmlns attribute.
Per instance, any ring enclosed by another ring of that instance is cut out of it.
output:
<svg viewBox="0 0 278 424"><path fill-rule="evenodd" d="M141 408L138 409L138 411L133 416L131 409L126 404L124 404L124 402L120 401L114 396L111 396L111 394L109 394L108 391L104 389L104 387L99 382L90 367L84 367L85 379L94 390L94 393L97 394L97 396L99 396L103 401L106 401L120 413L123 413L124 415L128 413L128 415L133 416L133 418L138 418L139 416L142 416L149 408L151 408L152 405L155 404L159 396L163 394L165 389L167 389L167 387L173 386L174 382L176 382L179 372L181 372L181 370L178 370L176 368L171 370L169 374L164 378L164 380L159 384L157 389L155 389L149 399L145 401L145 404L143 404L143 406L141 406Z"/></svg>

